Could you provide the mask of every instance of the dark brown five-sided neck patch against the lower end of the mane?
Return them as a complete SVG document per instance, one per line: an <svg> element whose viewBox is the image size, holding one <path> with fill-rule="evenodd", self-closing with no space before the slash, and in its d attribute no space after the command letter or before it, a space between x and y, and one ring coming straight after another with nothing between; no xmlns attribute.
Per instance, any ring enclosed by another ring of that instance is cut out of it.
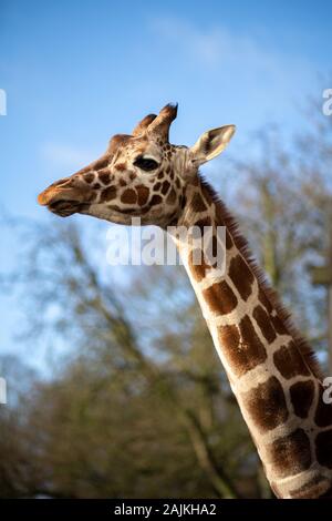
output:
<svg viewBox="0 0 332 521"><path fill-rule="evenodd" d="M295 376L310 375L302 355L293 340L291 340L287 346L281 346L280 349L274 353L273 361L279 372L288 380Z"/></svg>

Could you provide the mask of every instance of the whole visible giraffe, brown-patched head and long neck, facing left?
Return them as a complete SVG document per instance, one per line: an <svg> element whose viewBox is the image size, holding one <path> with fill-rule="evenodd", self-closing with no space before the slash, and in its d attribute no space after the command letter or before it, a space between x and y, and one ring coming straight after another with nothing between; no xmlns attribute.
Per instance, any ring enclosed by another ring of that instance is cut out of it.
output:
<svg viewBox="0 0 332 521"><path fill-rule="evenodd" d="M226 269L193 262L177 241L230 387L278 498L332 497L332 405L323 400L318 362L252 260L234 217L199 173L228 145L234 125L205 132L191 147L169 143L177 105L148 114L131 135L38 197L56 215L91 215L164 229L226 227ZM216 237L212 237L216 241Z"/></svg>

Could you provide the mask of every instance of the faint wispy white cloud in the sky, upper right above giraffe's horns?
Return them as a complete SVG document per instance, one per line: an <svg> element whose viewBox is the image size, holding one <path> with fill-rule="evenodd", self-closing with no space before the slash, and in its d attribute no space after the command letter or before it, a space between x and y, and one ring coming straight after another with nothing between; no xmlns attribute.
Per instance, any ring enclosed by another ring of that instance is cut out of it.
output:
<svg viewBox="0 0 332 521"><path fill-rule="evenodd" d="M317 86L314 63L269 47L262 38L167 17L149 24L172 57L170 67L190 83L190 92L197 84L216 102L219 93L234 113L246 113L257 123L298 111L298 100Z"/></svg>

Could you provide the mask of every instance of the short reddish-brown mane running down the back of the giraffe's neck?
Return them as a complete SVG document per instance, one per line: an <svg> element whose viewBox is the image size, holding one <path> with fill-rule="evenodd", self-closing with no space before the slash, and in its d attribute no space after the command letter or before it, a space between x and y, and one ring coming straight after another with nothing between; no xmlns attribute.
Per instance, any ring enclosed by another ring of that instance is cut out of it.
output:
<svg viewBox="0 0 332 521"><path fill-rule="evenodd" d="M219 195L212 188L212 186L205 180L205 177L199 173L199 180L201 183L203 190L209 195L212 200L214 204L217 207L216 214L219 215L220 219L222 221L222 225L227 226L229 233L232 236L234 243L239 249L240 254L243 256L248 266L252 270L253 275L256 276L258 284L261 290L264 293L266 297L269 299L270 304L274 307L278 316L282 320L287 333L292 336L294 343L303 356L304 362L310 368L312 374L322 381L323 379L323 371L321 366L318 361L317 354L308 343L308 340L299 333L297 326L293 323L292 316L290 311L281 304L280 297L276 289L273 289L263 273L262 268L257 264L248 241L243 237L239 229L239 224L237 219L234 217L231 212L227 208L225 203L220 200Z"/></svg>

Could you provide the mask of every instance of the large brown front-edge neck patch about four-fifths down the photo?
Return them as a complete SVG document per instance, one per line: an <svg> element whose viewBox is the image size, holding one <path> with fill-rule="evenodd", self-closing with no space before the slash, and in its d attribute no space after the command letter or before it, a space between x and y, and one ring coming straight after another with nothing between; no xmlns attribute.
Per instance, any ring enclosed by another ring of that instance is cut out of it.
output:
<svg viewBox="0 0 332 521"><path fill-rule="evenodd" d="M243 392L242 400L252 420L263 432L284 423L289 416L282 387L274 376Z"/></svg>

